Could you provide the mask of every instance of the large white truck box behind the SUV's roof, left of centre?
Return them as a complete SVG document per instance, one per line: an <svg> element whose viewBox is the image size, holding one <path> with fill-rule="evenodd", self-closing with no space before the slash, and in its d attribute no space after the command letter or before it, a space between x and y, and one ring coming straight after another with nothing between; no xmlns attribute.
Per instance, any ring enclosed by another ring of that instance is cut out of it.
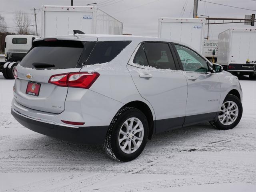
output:
<svg viewBox="0 0 256 192"><path fill-rule="evenodd" d="M42 37L73 34L80 30L85 34L121 35L123 24L96 6L42 7Z"/></svg>

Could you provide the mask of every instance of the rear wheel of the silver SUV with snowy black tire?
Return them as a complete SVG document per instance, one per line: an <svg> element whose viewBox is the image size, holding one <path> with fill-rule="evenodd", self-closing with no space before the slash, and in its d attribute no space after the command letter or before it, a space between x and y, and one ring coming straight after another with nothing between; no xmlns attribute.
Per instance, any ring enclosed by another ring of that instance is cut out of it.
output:
<svg viewBox="0 0 256 192"><path fill-rule="evenodd" d="M146 116L136 108L124 107L116 113L110 123L104 141L104 149L112 159L128 162L142 153L147 140L148 121Z"/></svg>

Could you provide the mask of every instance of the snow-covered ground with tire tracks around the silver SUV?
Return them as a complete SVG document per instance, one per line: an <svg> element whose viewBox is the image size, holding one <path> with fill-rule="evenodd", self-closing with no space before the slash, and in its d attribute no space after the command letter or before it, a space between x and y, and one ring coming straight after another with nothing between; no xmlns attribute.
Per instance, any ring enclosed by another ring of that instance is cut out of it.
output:
<svg viewBox="0 0 256 192"><path fill-rule="evenodd" d="M14 80L0 75L0 191L256 191L256 81L240 80L242 120L153 136L132 162L110 160L101 146L32 132L10 114Z"/></svg>

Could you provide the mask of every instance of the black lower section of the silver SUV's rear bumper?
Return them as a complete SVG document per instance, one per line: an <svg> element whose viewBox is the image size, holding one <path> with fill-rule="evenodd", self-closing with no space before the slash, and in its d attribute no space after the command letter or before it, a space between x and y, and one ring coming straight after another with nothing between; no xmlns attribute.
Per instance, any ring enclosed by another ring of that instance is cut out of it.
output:
<svg viewBox="0 0 256 192"><path fill-rule="evenodd" d="M34 132L77 143L102 144L108 130L108 126L72 128L49 124L26 118L13 109L11 114L20 124Z"/></svg>

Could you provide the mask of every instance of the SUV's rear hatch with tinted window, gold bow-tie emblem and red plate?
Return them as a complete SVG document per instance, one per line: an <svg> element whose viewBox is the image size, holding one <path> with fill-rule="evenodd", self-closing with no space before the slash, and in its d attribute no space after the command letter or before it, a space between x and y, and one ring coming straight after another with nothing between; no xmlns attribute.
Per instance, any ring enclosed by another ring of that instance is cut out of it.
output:
<svg viewBox="0 0 256 192"><path fill-rule="evenodd" d="M34 42L16 68L15 100L34 110L56 114L64 111L68 87L48 81L52 75L79 72L96 41L97 38L92 42L57 39Z"/></svg>

